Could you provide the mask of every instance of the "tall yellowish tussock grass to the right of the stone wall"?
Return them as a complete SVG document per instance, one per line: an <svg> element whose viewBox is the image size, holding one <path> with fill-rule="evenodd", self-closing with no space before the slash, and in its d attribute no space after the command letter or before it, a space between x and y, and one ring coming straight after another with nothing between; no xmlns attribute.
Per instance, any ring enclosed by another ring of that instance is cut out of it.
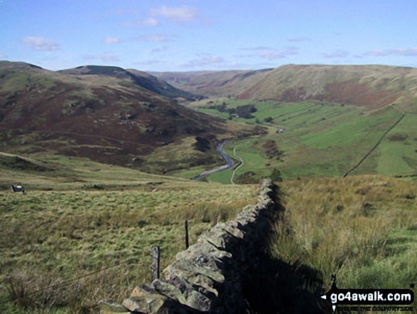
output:
<svg viewBox="0 0 417 314"><path fill-rule="evenodd" d="M282 184L283 221L271 253L313 267L326 288L409 288L417 281L415 182L386 177Z"/></svg>

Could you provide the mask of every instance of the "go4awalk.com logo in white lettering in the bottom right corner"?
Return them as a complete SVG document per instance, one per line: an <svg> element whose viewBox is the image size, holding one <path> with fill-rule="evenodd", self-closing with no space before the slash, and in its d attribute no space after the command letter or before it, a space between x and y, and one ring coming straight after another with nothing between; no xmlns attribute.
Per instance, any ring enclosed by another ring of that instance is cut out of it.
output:
<svg viewBox="0 0 417 314"><path fill-rule="evenodd" d="M406 311L413 313L414 292L411 289L339 289L332 275L332 288L321 298L335 310ZM414 285L410 286L414 288ZM353 305L347 307L346 305Z"/></svg>

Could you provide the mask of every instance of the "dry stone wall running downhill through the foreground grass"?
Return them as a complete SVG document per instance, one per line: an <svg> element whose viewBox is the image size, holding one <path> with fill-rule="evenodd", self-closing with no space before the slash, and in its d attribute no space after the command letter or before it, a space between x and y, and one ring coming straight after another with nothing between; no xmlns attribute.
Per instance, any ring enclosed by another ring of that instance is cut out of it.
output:
<svg viewBox="0 0 417 314"><path fill-rule="evenodd" d="M162 278L136 287L123 305L101 302L100 313L242 313L242 284L259 265L277 211L275 189L263 180L255 205L202 234L175 256Z"/></svg>

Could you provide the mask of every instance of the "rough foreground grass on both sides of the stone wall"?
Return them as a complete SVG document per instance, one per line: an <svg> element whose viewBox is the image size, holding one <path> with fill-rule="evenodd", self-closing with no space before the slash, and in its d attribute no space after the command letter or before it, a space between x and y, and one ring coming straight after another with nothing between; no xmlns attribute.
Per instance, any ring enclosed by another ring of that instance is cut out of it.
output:
<svg viewBox="0 0 417 314"><path fill-rule="evenodd" d="M185 219L193 243L257 197L256 185L190 182L73 157L0 157L5 313L95 313L98 300L123 300L149 280L150 246L161 246L163 267L183 250ZM22 182L25 194L7 189ZM328 288L332 273L340 288L408 288L417 280L415 182L300 179L280 191L286 211L271 253L296 273L308 266L318 274L303 273L302 289L315 281Z"/></svg>

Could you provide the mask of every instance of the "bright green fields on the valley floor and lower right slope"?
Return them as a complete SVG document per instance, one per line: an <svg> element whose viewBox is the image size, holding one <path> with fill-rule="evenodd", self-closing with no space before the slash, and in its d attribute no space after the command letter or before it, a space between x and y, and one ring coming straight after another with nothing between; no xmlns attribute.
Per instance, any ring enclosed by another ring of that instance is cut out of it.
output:
<svg viewBox="0 0 417 314"><path fill-rule="evenodd" d="M204 109L222 103L227 103L227 108L254 105L257 111L252 113L253 118L233 120L269 127L267 136L237 140L227 145L226 151L231 156L234 146L239 145L239 156L244 159L237 177L254 172L252 177L259 179L268 176L274 168L281 170L284 179L342 176L374 148L351 174L410 176L417 173L417 116L406 114L395 125L403 115L395 106L365 111L364 108L334 103L274 103L224 98L212 100L212 103L207 100L193 103L193 107L227 119L227 112ZM264 121L267 117L269 122ZM393 125L395 127L390 130ZM284 131L279 133L281 128ZM267 155L264 145L271 140L283 150L282 158ZM212 174L209 179L227 183L231 174L231 171Z"/></svg>

